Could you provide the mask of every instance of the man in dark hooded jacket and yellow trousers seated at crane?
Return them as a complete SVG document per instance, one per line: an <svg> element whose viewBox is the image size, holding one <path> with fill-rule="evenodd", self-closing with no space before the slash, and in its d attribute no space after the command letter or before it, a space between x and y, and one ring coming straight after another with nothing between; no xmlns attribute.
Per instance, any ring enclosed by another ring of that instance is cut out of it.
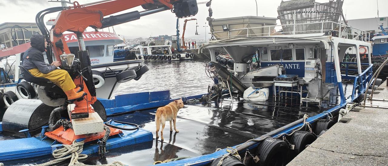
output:
<svg viewBox="0 0 388 166"><path fill-rule="evenodd" d="M68 100L78 99L83 96L84 92L80 87L76 88L73 80L66 70L57 69L61 66L59 61L52 64L46 64L42 52L45 51L47 42L43 35L34 34L30 38L31 47L24 52L23 66L35 77L47 78L55 85L59 86L68 97Z"/></svg>

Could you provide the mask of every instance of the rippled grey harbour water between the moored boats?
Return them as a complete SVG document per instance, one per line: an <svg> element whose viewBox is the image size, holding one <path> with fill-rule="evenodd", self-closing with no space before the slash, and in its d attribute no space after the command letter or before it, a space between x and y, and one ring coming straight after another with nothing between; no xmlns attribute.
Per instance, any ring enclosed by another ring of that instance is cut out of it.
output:
<svg viewBox="0 0 388 166"><path fill-rule="evenodd" d="M120 84L114 95L137 92L170 90L171 97L182 97L206 93L208 85L213 83L205 73L204 64L209 61L144 61L149 67L140 80L131 80Z"/></svg>

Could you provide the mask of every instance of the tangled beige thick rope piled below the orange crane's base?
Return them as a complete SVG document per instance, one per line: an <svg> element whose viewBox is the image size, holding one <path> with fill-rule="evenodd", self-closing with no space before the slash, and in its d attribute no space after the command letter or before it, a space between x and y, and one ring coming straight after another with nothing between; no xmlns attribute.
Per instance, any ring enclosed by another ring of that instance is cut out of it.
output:
<svg viewBox="0 0 388 166"><path fill-rule="evenodd" d="M84 143L84 141L76 142L74 140L73 144L71 145L63 145L63 148L54 150L54 152L52 153L52 156L54 156L55 160L39 164L38 166L52 166L57 163L61 163L67 159L70 159L70 163L68 166L95 166L78 162L78 159L82 160L88 157L88 155L86 154L81 154ZM99 166L125 166L125 164L121 163L120 161L114 161L111 164L103 164Z"/></svg>

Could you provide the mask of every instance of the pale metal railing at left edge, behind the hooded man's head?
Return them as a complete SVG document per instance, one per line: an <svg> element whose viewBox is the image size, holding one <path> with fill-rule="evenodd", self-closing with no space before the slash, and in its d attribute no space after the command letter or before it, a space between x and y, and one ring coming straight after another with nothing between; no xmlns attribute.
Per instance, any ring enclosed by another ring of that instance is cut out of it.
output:
<svg viewBox="0 0 388 166"><path fill-rule="evenodd" d="M34 27L34 26L35 26L35 27ZM26 43L27 40L29 40L29 38L28 38L28 39L27 39L27 38L24 38L23 40L19 39L19 37L18 37L18 35L17 35L17 31L22 31L23 36L26 36L26 34L24 33L24 31L28 31L27 29L31 29L31 30L30 30L31 33L32 33L33 31L35 31L35 30L38 30L35 23L34 23L34 24L30 24L30 25L28 25L28 26L21 27L21 28L19 28L19 29L15 29L15 30L13 30L13 31L10 31L10 32L7 32L7 33L5 33L5 34L0 35L0 42L1 42L0 44L4 44L4 45L5 45L5 48L10 48L10 47L14 47L14 46L16 46L16 45L20 45L19 41L24 41L24 43ZM36 32L40 33L39 31L36 31ZM12 33L14 33L15 36L13 36ZM31 35L33 35L33 34L31 34ZM7 37L8 39L6 39L6 37ZM15 41L16 41L16 42L15 42L16 45L14 45L14 43L13 43L13 38L16 38L16 40L15 40ZM7 46L7 43L9 43L9 46ZM21 44L24 44L24 43L21 43ZM0 48L0 49L1 49L1 48Z"/></svg>

